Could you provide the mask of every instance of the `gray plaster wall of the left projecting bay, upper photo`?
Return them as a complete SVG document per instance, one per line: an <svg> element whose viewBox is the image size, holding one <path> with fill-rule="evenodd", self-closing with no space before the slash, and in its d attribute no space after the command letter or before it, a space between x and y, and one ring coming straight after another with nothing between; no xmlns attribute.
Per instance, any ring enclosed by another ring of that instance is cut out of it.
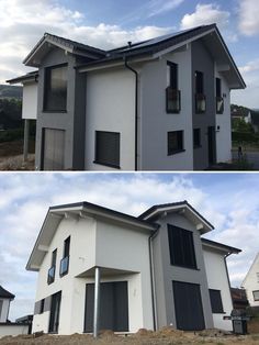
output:
<svg viewBox="0 0 259 345"><path fill-rule="evenodd" d="M67 64L67 112L45 112L45 68ZM36 126L35 169L42 169L43 129L65 131L65 169L85 169L86 81L85 75L75 69L76 57L60 48L52 49L42 60L38 70L38 105Z"/></svg>

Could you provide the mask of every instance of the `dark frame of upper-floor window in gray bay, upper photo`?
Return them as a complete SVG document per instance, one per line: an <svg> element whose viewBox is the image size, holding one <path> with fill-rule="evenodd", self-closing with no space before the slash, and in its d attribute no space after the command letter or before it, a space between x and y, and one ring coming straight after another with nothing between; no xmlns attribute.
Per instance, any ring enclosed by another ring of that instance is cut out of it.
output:
<svg viewBox="0 0 259 345"><path fill-rule="evenodd" d="M59 65L54 65L54 66L47 66L44 69L44 94L43 94L43 112L44 113L67 113L67 96L68 96L68 78L66 80L66 102L65 102L65 109L60 107L60 109L50 109L47 105L48 102L48 93L49 92L49 81L52 80L50 78L50 71L54 69L67 67L67 74L68 74L68 64L59 64Z"/></svg>

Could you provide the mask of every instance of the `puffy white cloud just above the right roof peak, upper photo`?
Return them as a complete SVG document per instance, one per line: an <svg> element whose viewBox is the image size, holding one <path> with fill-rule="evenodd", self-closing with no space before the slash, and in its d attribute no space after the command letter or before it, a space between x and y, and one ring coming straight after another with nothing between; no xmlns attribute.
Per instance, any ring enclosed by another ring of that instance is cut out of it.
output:
<svg viewBox="0 0 259 345"><path fill-rule="evenodd" d="M181 20L181 29L190 29L199 25L216 23L219 27L228 24L230 13L222 11L217 4L198 4L195 12L185 14Z"/></svg>

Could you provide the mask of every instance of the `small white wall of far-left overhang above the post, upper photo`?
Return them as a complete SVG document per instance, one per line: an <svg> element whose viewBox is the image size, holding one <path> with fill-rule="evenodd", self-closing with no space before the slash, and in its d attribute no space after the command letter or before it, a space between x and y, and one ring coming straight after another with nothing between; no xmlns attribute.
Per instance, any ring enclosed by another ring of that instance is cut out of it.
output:
<svg viewBox="0 0 259 345"><path fill-rule="evenodd" d="M37 82L23 85L22 119L37 119Z"/></svg>

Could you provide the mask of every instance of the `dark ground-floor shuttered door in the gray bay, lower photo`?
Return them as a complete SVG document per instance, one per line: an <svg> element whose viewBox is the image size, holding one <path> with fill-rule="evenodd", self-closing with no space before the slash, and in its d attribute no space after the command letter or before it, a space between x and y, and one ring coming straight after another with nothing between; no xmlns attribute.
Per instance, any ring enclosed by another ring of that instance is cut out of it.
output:
<svg viewBox="0 0 259 345"><path fill-rule="evenodd" d="M204 330L204 316L200 286L172 281L177 329L183 331Z"/></svg>

